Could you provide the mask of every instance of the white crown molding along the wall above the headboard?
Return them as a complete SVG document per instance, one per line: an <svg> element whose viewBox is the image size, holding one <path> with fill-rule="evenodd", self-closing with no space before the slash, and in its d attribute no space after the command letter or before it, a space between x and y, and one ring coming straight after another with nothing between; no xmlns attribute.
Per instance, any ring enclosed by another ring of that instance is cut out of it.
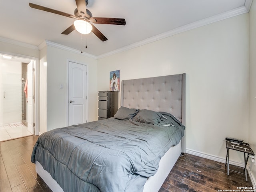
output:
<svg viewBox="0 0 256 192"><path fill-rule="evenodd" d="M252 0L246 0L246 2L249 2L249 1L252 1ZM242 6L240 8L236 8L236 9L224 12L222 14L218 14L218 15L215 15L215 16L212 16L212 17L208 17L206 19L203 19L203 20L200 20L200 21L197 21L197 22L193 22L191 24L181 26L181 27L176 28L174 30L170 30L168 32L165 32L165 33L147 38L147 39L142 40L140 42L130 44L128 46L125 46L125 47L120 48L120 49L116 49L116 50L108 52L106 54L99 55L99 56L97 56L97 59L104 58L104 57L107 57L107 56L110 56L110 55L114 55L114 54L117 54L117 53L120 53L120 52L124 52L126 50L130 50L130 49L133 49L133 48L136 48L136 47L139 47L139 46L142 46L142 45L145 45L145 44L157 41L157 40L161 40L163 38L167 38L167 37L170 37L170 36L173 36L173 35L176 35L176 34L179 34L179 33L194 29L194 28L198 28L198 27L201 27L201 26L204 26L204 25L208 25L208 24L211 24L211 23L214 23L214 22L218 22L218 21L230 18L230 17L234 17L234 16L237 16L237 15L240 15L240 14L244 14L244 13L248 13L248 10L245 6Z"/></svg>

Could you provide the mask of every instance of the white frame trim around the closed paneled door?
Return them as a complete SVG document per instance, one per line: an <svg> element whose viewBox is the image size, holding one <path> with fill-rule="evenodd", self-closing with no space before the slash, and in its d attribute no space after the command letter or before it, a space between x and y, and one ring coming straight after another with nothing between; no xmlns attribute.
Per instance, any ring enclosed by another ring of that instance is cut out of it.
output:
<svg viewBox="0 0 256 192"><path fill-rule="evenodd" d="M66 82L66 126L68 126L68 91L69 91L69 86L68 86L68 82L69 82L69 62L73 62L73 63L77 63L77 64L80 64L80 65L84 65L86 66L86 122L88 122L88 105L89 105L89 102L88 102L88 86L89 86L89 83L88 83L88 80L89 80L89 68L88 68L88 64L84 64L84 63L81 63L81 62L78 62L78 61L74 61L74 60L68 60L67 62L67 82Z"/></svg>

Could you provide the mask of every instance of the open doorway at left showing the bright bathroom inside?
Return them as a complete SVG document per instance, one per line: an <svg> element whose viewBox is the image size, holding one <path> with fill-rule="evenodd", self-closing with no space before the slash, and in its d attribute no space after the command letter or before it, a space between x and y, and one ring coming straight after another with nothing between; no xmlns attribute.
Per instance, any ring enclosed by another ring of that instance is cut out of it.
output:
<svg viewBox="0 0 256 192"><path fill-rule="evenodd" d="M36 60L0 53L0 141L38 132L34 131L35 67Z"/></svg>

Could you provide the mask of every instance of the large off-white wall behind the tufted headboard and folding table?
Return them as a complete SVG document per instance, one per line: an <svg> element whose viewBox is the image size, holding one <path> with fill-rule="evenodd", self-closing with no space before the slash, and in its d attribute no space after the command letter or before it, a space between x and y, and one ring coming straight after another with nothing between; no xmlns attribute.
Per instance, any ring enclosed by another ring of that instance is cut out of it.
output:
<svg viewBox="0 0 256 192"><path fill-rule="evenodd" d="M98 60L98 90L113 70L120 80L186 73L187 150L225 158L225 137L248 141L248 43L248 14L208 24Z"/></svg>

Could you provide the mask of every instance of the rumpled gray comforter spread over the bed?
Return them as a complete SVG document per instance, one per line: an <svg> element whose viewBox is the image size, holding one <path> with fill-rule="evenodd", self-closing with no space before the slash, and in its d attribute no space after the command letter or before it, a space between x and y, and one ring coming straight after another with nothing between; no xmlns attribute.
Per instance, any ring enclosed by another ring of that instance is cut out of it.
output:
<svg viewBox="0 0 256 192"><path fill-rule="evenodd" d="M142 192L160 158L180 142L184 126L109 118L40 135L37 160L64 192Z"/></svg>

